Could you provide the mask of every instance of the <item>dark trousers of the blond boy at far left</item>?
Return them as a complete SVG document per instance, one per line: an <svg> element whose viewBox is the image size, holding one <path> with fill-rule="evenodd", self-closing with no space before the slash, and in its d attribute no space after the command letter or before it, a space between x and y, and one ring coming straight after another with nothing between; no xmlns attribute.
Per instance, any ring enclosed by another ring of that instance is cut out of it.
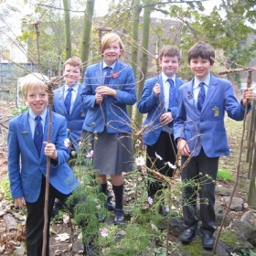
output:
<svg viewBox="0 0 256 256"><path fill-rule="evenodd" d="M26 242L27 256L41 256L43 248L43 229L44 229L44 207L45 207L45 187L46 179L43 177L40 196L35 203L27 203L27 223L26 223ZM49 255L49 223L51 211L55 197L65 202L67 195L59 193L54 187L49 185L48 194L48 230L47 230L47 253Z"/></svg>

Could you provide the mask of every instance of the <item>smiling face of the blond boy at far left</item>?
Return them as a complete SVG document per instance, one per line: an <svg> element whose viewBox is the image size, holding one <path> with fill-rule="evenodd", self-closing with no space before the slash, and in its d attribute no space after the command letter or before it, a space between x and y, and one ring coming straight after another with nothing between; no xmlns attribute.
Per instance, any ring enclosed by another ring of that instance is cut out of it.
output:
<svg viewBox="0 0 256 256"><path fill-rule="evenodd" d="M26 101L31 110L40 115L48 106L48 93L42 88L28 90Z"/></svg>

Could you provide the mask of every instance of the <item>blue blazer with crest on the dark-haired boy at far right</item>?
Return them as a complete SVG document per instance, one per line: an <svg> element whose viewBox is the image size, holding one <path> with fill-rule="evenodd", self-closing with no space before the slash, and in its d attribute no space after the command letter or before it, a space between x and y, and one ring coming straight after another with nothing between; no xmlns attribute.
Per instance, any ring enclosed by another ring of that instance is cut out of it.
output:
<svg viewBox="0 0 256 256"><path fill-rule="evenodd" d="M184 138L193 156L203 147L208 157L229 155L229 144L225 129L225 112L229 118L241 121L245 109L235 96L228 80L210 76L208 93L201 114L193 97L194 79L179 89L179 105L174 124L175 139ZM249 104L248 112L251 110Z"/></svg>

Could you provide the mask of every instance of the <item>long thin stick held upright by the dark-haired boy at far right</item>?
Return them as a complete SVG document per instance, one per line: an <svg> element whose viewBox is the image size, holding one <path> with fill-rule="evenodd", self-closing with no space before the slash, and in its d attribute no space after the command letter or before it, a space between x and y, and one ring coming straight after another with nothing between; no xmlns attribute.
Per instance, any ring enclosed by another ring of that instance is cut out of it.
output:
<svg viewBox="0 0 256 256"><path fill-rule="evenodd" d="M248 77L247 77L247 88L250 88L251 87L251 75L252 74L252 71L251 69L248 71ZM235 186L233 188L233 191L232 191L232 194L230 196L230 199L229 199L229 206L228 208L226 209L226 212L224 214L224 217L221 221L221 225L219 227L219 232L217 234L217 237L216 237L216 240L215 240L215 243L214 243L214 247L213 247L213 253L216 252L216 248L217 248L217 244L218 244L218 241L219 241L219 237L220 237L220 233L221 233L221 230L223 228L223 225L224 225L224 221L228 215L228 212L229 212L229 208L230 208L230 205L232 203L232 199L234 197L234 194L235 194L235 191L236 191L236 188L238 186L238 183L239 183L239 177L240 177L240 161L241 161L241 154L242 154L242 145L243 145L243 140L244 140L244 133L245 133L245 123L246 123L246 114L247 114L247 109L248 109L248 104L246 103L245 105L245 111L244 111L244 118L243 118L243 125L242 125L242 134L241 134L241 139L240 139L240 155L239 155L239 163L238 163L238 167L237 167L237 176L236 176L236 182L235 182Z"/></svg>

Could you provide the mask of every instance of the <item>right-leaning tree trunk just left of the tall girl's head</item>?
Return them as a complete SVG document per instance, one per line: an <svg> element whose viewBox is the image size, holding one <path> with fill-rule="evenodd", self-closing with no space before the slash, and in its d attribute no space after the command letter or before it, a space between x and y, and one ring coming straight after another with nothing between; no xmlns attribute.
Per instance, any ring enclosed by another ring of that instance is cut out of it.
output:
<svg viewBox="0 0 256 256"><path fill-rule="evenodd" d="M80 59L86 62L89 59L90 53L90 40L91 40L91 21L94 12L94 0L87 0L86 9L84 12L83 29L82 29L82 42Z"/></svg>

